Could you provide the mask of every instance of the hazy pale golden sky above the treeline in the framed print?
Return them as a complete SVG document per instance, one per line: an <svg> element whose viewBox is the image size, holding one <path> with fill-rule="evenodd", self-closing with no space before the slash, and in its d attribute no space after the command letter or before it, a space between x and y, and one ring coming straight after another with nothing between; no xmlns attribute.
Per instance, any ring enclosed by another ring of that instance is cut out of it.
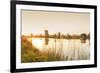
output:
<svg viewBox="0 0 100 73"><path fill-rule="evenodd" d="M21 11L22 34L80 34L90 32L90 14L53 11Z"/></svg>

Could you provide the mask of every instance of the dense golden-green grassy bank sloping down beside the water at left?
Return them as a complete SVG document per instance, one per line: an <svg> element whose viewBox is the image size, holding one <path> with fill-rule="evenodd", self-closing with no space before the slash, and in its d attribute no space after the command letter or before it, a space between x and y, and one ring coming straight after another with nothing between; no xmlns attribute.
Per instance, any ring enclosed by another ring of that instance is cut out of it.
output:
<svg viewBox="0 0 100 73"><path fill-rule="evenodd" d="M39 51L32 43L25 37L21 40L21 62L45 62L45 61L60 61L60 54L55 53L54 50Z"/></svg>

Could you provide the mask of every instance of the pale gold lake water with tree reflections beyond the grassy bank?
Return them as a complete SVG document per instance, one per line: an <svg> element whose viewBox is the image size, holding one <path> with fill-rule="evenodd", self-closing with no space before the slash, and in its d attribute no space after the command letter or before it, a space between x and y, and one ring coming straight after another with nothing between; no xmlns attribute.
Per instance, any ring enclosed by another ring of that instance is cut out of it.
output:
<svg viewBox="0 0 100 73"><path fill-rule="evenodd" d="M90 58L90 45L87 39L83 43L80 39L33 38L32 43L40 51L54 51L59 54L63 60Z"/></svg>

